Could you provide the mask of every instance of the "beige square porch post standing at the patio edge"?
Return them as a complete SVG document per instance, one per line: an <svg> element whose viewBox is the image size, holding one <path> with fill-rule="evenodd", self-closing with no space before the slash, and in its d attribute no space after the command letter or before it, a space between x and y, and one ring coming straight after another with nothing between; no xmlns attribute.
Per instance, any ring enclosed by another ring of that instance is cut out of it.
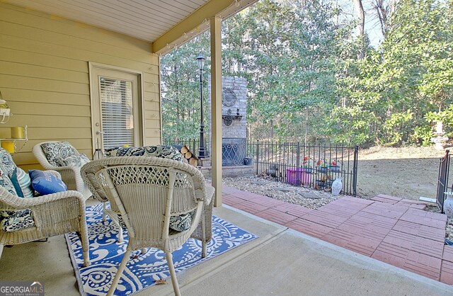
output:
<svg viewBox="0 0 453 296"><path fill-rule="evenodd" d="M211 18L212 186L214 207L222 205L222 18Z"/></svg>

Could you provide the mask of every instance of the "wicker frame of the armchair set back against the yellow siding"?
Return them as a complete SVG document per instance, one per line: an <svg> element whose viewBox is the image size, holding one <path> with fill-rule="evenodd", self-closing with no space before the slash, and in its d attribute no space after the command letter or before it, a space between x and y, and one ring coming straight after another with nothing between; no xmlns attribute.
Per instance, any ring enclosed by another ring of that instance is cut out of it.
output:
<svg viewBox="0 0 453 296"><path fill-rule="evenodd" d="M35 144L35 146L33 147L33 154L35 155L36 159L38 159L40 165L44 169L58 171L62 175L62 180L64 181L66 186L68 186L69 190L77 190L82 193L85 198L89 198L91 196L91 192L80 176L80 168L77 168L75 166L53 166L52 164L50 164L41 148L41 144L45 143L57 143L57 141L41 142Z"/></svg>

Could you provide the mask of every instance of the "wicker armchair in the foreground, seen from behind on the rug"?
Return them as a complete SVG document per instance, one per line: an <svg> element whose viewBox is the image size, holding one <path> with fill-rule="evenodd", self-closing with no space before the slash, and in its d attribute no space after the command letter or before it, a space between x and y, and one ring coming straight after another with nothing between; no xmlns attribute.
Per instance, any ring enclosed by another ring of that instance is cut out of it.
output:
<svg viewBox="0 0 453 296"><path fill-rule="evenodd" d="M122 156L91 161L81 174L94 195L116 205L129 231L127 250L108 295L115 292L130 253L147 247L165 251L173 290L180 295L171 253L189 237L200 239L205 253L212 235L212 212L207 208L212 209L214 188L207 190L202 173L171 159ZM188 230L169 229L172 216L189 212L193 218Z"/></svg>

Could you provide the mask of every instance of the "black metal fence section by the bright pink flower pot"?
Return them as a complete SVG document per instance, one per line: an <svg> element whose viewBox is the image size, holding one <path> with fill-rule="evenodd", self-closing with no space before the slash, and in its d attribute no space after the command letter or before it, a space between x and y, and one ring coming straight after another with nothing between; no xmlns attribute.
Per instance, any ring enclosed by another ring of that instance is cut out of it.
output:
<svg viewBox="0 0 453 296"><path fill-rule="evenodd" d="M247 155L255 161L255 173L277 181L316 189L330 188L341 178L343 193L357 194L359 147L345 145L248 143Z"/></svg>

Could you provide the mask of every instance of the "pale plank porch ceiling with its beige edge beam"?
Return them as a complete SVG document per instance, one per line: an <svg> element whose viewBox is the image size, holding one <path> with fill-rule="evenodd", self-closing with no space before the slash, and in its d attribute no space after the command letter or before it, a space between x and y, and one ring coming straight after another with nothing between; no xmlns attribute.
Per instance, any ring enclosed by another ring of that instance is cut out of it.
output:
<svg viewBox="0 0 453 296"><path fill-rule="evenodd" d="M113 30L166 52L206 30L208 19L231 16L256 0L5 0L36 11ZM164 48L167 47L167 48Z"/></svg>

